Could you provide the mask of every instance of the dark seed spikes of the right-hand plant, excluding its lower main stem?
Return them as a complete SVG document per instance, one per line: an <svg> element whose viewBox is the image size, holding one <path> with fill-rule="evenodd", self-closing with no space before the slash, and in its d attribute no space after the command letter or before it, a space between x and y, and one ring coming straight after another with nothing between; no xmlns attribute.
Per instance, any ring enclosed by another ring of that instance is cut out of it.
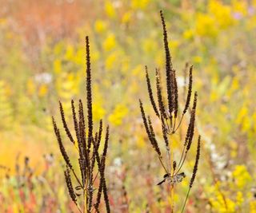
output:
<svg viewBox="0 0 256 213"><path fill-rule="evenodd" d="M185 116L186 112L189 111L188 109L190 108L190 99L191 99L191 95L192 95L193 66L190 66L190 69L189 69L189 73L190 73L189 74L189 84L188 84L188 88L187 88L187 96L186 96L186 101L184 103L184 108L183 108L182 112L178 112L179 103L178 103L178 85L177 85L177 79L176 79L176 71L172 65L172 59L170 56L170 49L169 49L169 45L168 45L168 38L167 38L167 31L166 31L166 23L165 23L162 11L160 11L160 16L162 19L163 41L164 41L164 48L165 48L165 53L166 53L166 94L163 94L160 73L159 73L158 69L156 69L156 72L155 72L156 73L156 90L157 90L158 103L156 101L154 101L154 95L153 95L152 86L150 83L150 77L149 77L147 67L146 67L146 85L147 85L147 89L148 89L148 93L149 93L149 97L150 97L150 102L154 109L155 115L158 116L159 120L161 120L162 137L163 137L163 140L166 145L166 153L167 153L167 164L166 165L162 161L162 153L158 146L158 141L157 141L155 133L154 133L154 128L151 124L150 116L146 116L146 113L144 111L141 100L139 100L139 104L140 104L140 109L141 109L141 113L142 113L142 120L143 120L144 126L146 128L147 136L148 136L150 143L153 146L155 152L157 152L157 154L158 154L158 159L160 160L160 163L162 164L162 168L164 168L164 170L166 171L165 177L168 176L170 179L174 179L175 177L178 176L178 172L182 169L182 165L184 164L184 161L186 160L186 154L187 154L187 152L189 152L192 141L193 141L195 112L196 112L198 95L196 92L194 93L194 103L193 103L192 109L190 110L190 122L189 122L187 132L186 132L186 139L185 139L185 142L184 142L184 145L182 148L182 156L179 160L179 163L177 164L176 161L172 159L169 136L174 134L175 132L177 132L178 128L182 124L183 117ZM186 64L186 69L187 68L188 68L188 65ZM165 101L164 97L167 97L166 101ZM196 160L195 160L195 164L194 164L193 175L190 180L190 188L192 187L194 178L196 176L199 155L200 155L200 136L198 137L198 150L197 150L197 156L196 156ZM181 173L181 174L184 175L184 173Z"/></svg>

